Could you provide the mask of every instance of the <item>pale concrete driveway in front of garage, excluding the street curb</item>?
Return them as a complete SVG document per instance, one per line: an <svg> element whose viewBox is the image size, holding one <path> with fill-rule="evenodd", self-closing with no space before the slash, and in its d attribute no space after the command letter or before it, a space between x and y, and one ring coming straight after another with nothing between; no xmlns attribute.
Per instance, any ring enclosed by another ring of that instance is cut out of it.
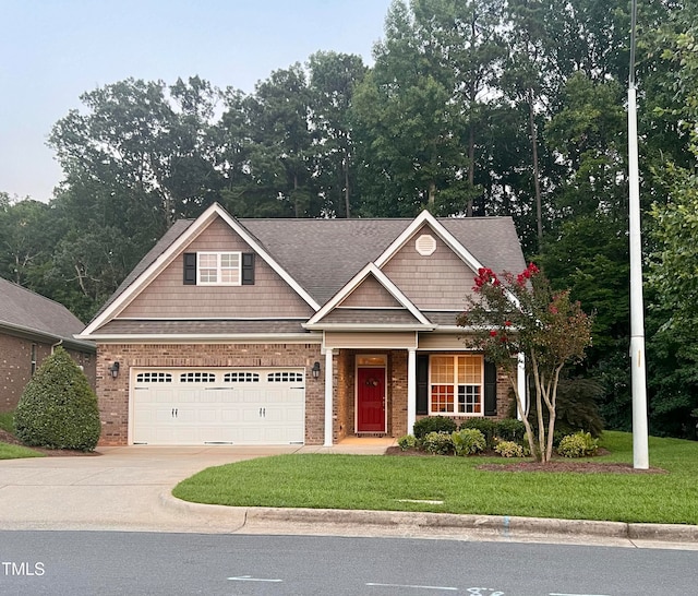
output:
<svg viewBox="0 0 698 596"><path fill-rule="evenodd" d="M381 450L385 445L373 449ZM228 508L226 518L213 521L206 506L176 506L170 496L174 485L206 467L323 448L123 446L97 451L99 455L0 461L0 529L231 531L244 524L244 510Z"/></svg>

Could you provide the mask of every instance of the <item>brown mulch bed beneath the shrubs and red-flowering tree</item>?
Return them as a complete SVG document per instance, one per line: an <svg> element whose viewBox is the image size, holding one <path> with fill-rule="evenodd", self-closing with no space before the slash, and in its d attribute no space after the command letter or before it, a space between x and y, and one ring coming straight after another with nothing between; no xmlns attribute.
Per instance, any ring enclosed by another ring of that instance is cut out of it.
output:
<svg viewBox="0 0 698 596"><path fill-rule="evenodd" d="M609 452L606 450L599 450L599 455L605 455ZM386 455L428 455L423 451L416 449L408 449L402 451L399 446L388 448ZM483 453L480 456L498 456L496 453ZM434 455L433 457L453 457L453 455ZM564 457L555 457L546 464L540 462L503 460L502 464L482 464L478 466L478 469L484 469L486 472L574 472L577 474L667 474L665 469L659 467L651 467L649 469L635 469L633 464L617 464L607 462L589 462L579 460L567 460Z"/></svg>

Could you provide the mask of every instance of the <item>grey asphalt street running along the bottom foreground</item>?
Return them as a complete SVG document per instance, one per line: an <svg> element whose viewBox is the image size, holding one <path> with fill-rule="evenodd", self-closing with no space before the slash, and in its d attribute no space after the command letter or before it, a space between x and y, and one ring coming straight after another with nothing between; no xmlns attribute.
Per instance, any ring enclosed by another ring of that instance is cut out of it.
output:
<svg viewBox="0 0 698 596"><path fill-rule="evenodd" d="M698 552L411 538L0 532L3 595L696 594Z"/></svg>

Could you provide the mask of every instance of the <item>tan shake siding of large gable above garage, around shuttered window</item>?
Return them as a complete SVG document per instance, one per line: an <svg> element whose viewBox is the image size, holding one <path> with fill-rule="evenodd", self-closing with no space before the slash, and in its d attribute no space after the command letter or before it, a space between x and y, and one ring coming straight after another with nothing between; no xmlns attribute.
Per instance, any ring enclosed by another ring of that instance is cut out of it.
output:
<svg viewBox="0 0 698 596"><path fill-rule="evenodd" d="M241 251L251 248L220 218L214 220L189 247L197 251ZM254 284L196 286L183 282L184 255L180 254L119 314L124 319L212 319L305 317L313 310L263 260L254 260Z"/></svg>

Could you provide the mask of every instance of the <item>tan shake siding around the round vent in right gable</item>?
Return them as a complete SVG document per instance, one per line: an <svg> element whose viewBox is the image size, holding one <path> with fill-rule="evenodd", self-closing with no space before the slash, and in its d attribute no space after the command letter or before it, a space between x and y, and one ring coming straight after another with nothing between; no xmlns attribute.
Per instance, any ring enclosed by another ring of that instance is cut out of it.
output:
<svg viewBox="0 0 698 596"><path fill-rule="evenodd" d="M422 234L436 240L433 254L417 252L414 241ZM385 265L383 273L419 309L461 309L472 291L473 272L429 227L417 231Z"/></svg>

